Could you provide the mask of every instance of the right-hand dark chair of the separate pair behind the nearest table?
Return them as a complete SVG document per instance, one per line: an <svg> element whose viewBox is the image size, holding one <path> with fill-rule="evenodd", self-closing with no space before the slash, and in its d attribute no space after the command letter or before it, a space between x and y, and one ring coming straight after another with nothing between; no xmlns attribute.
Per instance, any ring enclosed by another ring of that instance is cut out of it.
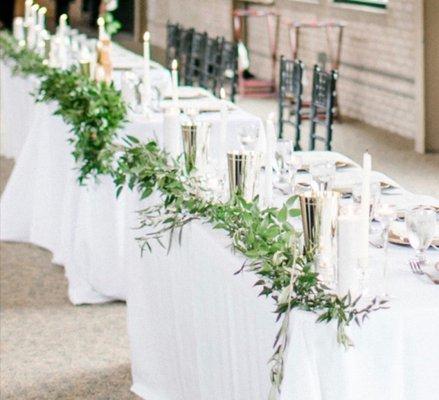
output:
<svg viewBox="0 0 439 400"><path fill-rule="evenodd" d="M337 78L337 71L325 72L318 65L314 66L310 109L310 150L315 150L316 140L323 142L326 150L331 150ZM324 128L324 136L317 134L318 126Z"/></svg>

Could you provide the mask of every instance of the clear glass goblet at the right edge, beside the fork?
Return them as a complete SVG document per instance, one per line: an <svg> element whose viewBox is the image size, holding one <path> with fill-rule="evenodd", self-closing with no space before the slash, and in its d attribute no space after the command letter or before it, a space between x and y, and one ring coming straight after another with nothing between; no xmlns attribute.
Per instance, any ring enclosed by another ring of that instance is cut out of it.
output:
<svg viewBox="0 0 439 400"><path fill-rule="evenodd" d="M426 263L425 251L430 247L436 231L436 211L431 207L415 207L407 211L405 224L410 245L421 264Z"/></svg>

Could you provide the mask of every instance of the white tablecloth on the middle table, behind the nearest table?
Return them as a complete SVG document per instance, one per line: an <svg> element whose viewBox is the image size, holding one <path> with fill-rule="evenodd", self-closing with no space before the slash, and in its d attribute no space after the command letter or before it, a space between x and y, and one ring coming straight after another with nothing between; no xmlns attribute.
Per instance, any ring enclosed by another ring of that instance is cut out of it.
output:
<svg viewBox="0 0 439 400"><path fill-rule="evenodd" d="M65 267L73 304L125 300L124 195L116 199L108 177L80 187L66 140L69 127L52 115L55 104L33 107L30 132L1 198L0 238L49 249L54 262ZM162 114L153 114L150 120L130 116L121 135L161 142ZM199 119L212 123L211 150L215 152L220 146L219 113L201 114ZM238 146L236 133L249 123L259 119L241 110L230 113L229 147Z"/></svg>

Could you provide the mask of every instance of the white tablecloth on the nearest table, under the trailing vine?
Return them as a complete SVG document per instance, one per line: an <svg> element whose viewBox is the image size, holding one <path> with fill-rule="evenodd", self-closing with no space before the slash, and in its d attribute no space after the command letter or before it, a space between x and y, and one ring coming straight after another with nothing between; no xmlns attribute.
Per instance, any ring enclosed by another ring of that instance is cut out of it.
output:
<svg viewBox="0 0 439 400"><path fill-rule="evenodd" d="M438 204L402 193L384 201ZM133 200L132 207L142 204ZM132 390L148 400L266 399L267 361L279 328L274 304L257 297L254 274L233 275L243 258L230 251L230 240L197 222L185 228L182 246L174 244L169 255L157 245L141 258L134 240L127 245ZM370 251L373 295L383 290L383 254ZM391 308L372 314L361 328L349 328L353 349L336 342L333 323L316 324L315 315L292 312L281 400L436 398L439 287L411 273L412 255L409 248L390 246ZM433 250L429 257L439 261Z"/></svg>

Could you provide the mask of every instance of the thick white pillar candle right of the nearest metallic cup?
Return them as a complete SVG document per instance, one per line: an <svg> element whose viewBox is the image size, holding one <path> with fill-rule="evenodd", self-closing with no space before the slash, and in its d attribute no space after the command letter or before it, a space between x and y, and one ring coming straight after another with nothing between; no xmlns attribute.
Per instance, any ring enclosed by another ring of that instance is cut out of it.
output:
<svg viewBox="0 0 439 400"><path fill-rule="evenodd" d="M357 239L362 216L353 204L344 206L338 217L337 227L337 270L338 293L344 296L350 291L359 293L359 254L361 242Z"/></svg>

